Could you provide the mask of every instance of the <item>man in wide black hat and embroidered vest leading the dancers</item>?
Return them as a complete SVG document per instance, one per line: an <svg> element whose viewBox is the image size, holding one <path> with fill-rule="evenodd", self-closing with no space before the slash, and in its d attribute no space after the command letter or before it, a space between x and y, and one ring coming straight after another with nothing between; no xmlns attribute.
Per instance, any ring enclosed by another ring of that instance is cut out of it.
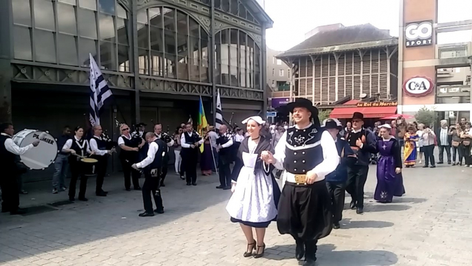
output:
<svg viewBox="0 0 472 266"><path fill-rule="evenodd" d="M295 257L303 265L317 260L317 242L332 230L331 198L325 176L339 165L334 139L321 129L318 110L308 99L298 98L287 105L296 125L289 127L275 147L275 154L261 154L282 174L283 190L279 201L277 227L297 243Z"/></svg>

